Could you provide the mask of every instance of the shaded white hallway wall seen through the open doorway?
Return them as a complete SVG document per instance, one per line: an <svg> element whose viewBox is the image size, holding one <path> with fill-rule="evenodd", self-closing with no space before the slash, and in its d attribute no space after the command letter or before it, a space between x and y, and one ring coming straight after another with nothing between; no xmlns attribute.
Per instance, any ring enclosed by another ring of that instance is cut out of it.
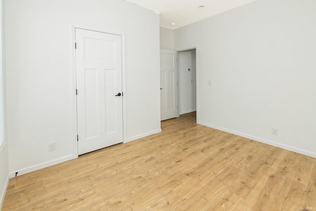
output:
<svg viewBox="0 0 316 211"><path fill-rule="evenodd" d="M188 68L190 68L190 71L188 71ZM180 51L178 53L178 98L180 115L197 110L196 76L196 49Z"/></svg>

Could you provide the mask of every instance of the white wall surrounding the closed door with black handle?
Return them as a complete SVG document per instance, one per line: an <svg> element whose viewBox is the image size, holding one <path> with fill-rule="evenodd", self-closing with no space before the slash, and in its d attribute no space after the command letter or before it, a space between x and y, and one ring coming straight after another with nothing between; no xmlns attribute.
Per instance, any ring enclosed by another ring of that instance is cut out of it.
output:
<svg viewBox="0 0 316 211"><path fill-rule="evenodd" d="M6 0L5 12L11 175L76 157L73 24L125 34L127 141L161 131L157 13L123 0Z"/></svg>

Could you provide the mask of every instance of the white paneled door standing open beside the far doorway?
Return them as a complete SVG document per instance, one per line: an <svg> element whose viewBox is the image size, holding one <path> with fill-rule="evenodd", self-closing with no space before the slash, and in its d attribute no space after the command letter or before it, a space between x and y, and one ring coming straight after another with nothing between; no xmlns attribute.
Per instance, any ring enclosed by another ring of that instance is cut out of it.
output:
<svg viewBox="0 0 316 211"><path fill-rule="evenodd" d="M160 50L160 119L178 117L176 51Z"/></svg>

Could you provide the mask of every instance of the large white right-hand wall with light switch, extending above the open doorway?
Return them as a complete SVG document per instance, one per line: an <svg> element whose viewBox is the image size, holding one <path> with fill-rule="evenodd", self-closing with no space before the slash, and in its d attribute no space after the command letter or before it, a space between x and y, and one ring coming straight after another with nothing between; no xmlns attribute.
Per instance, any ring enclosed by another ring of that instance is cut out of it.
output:
<svg viewBox="0 0 316 211"><path fill-rule="evenodd" d="M315 11L257 0L174 30L198 46L199 123L316 157Z"/></svg>

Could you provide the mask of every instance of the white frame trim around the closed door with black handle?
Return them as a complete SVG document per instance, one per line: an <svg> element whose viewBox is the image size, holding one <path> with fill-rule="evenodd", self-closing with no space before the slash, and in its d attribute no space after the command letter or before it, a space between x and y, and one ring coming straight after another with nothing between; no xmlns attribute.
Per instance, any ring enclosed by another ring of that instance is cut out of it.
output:
<svg viewBox="0 0 316 211"><path fill-rule="evenodd" d="M108 33L113 35L121 36L122 42L122 101L123 101L123 143L126 143L126 87L125 87L125 35L123 33L109 31L107 29L99 29L99 28L91 28L87 26L81 25L72 25L71 26L71 49L72 49L72 56L73 56L73 64L72 64L72 116L73 116L73 158L78 158L78 127L77 127L77 95L76 95L76 88L77 88L77 76L76 76L76 49L75 49L75 41L76 41L76 28L85 29L90 31Z"/></svg>

